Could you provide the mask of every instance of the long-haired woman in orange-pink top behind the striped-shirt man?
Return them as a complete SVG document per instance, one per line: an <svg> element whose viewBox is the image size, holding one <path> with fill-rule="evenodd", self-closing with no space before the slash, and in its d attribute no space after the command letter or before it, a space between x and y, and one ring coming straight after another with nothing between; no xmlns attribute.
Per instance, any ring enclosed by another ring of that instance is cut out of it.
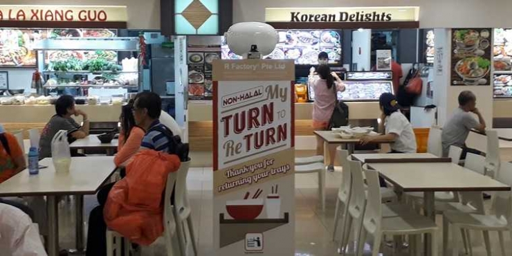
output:
<svg viewBox="0 0 512 256"><path fill-rule="evenodd" d="M122 107L121 111L121 131L119 133L118 154L113 158L116 166L122 166L131 156L134 156L140 148L145 131L135 125L134 114L131 113L133 102L129 102Z"/></svg>

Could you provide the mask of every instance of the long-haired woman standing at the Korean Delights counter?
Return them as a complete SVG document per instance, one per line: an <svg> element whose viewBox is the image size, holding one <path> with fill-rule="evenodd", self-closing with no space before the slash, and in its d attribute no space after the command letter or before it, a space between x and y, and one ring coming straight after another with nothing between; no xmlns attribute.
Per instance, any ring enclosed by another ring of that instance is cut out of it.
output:
<svg viewBox="0 0 512 256"><path fill-rule="evenodd" d="M313 103L313 129L325 131L329 128L329 121L336 107L338 91L345 91L345 84L336 73L331 72L327 64L318 66L317 75L311 68L309 73L309 88L313 88L315 102ZM324 154L323 140L316 136L316 154ZM334 171L334 154L336 147L329 146L329 167L327 170Z"/></svg>

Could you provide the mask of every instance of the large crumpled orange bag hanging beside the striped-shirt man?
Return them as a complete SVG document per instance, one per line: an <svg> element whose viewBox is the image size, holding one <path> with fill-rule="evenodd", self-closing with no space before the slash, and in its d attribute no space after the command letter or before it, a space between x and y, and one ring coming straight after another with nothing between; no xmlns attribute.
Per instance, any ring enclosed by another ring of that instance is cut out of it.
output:
<svg viewBox="0 0 512 256"><path fill-rule="evenodd" d="M162 194L167 175L179 169L178 156L145 150L133 156L126 177L113 186L103 210L107 226L148 246L163 232Z"/></svg>

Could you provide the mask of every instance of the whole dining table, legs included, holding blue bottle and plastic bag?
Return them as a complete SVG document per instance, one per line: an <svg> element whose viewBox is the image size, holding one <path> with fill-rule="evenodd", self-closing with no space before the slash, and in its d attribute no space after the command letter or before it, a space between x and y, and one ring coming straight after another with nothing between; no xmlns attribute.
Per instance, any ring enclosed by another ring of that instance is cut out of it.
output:
<svg viewBox="0 0 512 256"><path fill-rule="evenodd" d="M73 157L68 172L57 172L52 158L44 158L39 165L45 166L39 174L23 170L7 181L0 183L0 196L46 196L48 217L47 251L49 256L59 255L60 196L75 196L76 249L84 251L84 195L96 194L116 169L113 156Z"/></svg>

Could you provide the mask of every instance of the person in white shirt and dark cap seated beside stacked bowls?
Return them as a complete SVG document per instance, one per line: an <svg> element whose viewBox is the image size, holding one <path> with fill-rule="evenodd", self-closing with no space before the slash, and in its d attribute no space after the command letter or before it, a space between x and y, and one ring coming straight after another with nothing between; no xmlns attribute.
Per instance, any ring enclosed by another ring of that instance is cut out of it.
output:
<svg viewBox="0 0 512 256"><path fill-rule="evenodd" d="M361 138L361 144L365 145L374 140L394 140L390 153L416 153L416 136L409 120L400 112L396 97L391 93L383 93L378 102L382 111L378 127L379 131L385 133L379 136L365 136Z"/></svg>

